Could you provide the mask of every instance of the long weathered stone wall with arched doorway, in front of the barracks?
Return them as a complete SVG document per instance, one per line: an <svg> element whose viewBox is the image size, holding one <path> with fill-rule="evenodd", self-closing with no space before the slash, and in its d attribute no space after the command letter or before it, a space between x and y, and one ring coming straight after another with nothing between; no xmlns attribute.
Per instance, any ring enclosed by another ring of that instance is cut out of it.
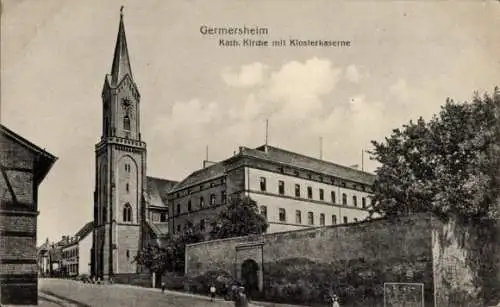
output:
<svg viewBox="0 0 500 307"><path fill-rule="evenodd" d="M416 215L203 242L186 248L186 274L221 270L241 280L253 260L268 300L325 303L333 289L344 304L382 306L384 282L416 282L432 304L431 229L430 215Z"/></svg>

